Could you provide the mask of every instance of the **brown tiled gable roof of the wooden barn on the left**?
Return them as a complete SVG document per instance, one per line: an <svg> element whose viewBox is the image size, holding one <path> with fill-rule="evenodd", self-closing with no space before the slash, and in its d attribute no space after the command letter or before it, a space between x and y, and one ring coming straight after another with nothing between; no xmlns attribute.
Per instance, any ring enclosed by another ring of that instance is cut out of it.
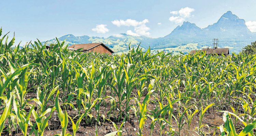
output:
<svg viewBox="0 0 256 136"><path fill-rule="evenodd" d="M86 44L73 44L73 45L69 46L68 48L75 49L75 50L82 48L83 51L88 51L88 50L90 50L90 49L92 49L92 48L94 48L98 45L102 45L102 46L106 47L111 53L114 53L108 46L106 46L102 42L100 42L100 43L86 43Z"/></svg>

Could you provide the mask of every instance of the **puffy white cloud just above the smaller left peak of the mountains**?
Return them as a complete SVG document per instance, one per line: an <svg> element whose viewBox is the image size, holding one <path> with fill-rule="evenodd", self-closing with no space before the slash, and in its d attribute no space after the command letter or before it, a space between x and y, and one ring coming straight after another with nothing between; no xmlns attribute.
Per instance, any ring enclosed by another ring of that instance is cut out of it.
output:
<svg viewBox="0 0 256 136"><path fill-rule="evenodd" d="M182 23L183 21L185 21L186 18L189 18L191 16L191 13L194 11L195 9L190 7L181 8L179 11L171 11L170 14L179 14L179 16L172 16L169 18L169 20L175 23Z"/></svg>

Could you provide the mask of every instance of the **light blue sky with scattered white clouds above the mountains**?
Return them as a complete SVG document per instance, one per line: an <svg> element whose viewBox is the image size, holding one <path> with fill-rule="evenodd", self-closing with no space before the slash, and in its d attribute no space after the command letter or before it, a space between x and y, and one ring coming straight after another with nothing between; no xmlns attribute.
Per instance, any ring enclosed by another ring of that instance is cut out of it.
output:
<svg viewBox="0 0 256 136"><path fill-rule="evenodd" d="M255 6L255 0L12 0L0 3L0 27L3 33L15 31L22 43L66 34L157 38L183 21L204 28L231 11L256 31Z"/></svg>

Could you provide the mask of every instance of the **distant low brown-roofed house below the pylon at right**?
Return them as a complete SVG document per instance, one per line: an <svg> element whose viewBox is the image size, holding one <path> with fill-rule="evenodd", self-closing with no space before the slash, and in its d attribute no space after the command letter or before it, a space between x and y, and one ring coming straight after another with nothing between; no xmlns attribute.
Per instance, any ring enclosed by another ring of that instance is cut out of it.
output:
<svg viewBox="0 0 256 136"><path fill-rule="evenodd" d="M229 48L203 48L202 50L192 50L190 54L195 54L196 52L205 52L206 55L229 55Z"/></svg>

